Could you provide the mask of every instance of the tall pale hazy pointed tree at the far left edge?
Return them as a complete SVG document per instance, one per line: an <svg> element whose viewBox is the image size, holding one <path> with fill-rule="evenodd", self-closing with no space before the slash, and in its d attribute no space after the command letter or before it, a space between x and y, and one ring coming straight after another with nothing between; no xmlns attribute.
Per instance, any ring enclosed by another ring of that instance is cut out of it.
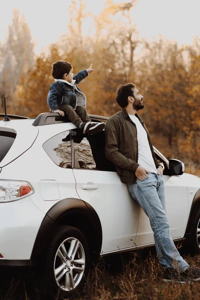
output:
<svg viewBox="0 0 200 300"><path fill-rule="evenodd" d="M13 101L13 93L22 75L33 64L33 43L28 24L19 10L14 9L12 23L8 26L6 41L0 46L0 98L3 108L3 96L7 96L7 104L14 109L18 106Z"/></svg>

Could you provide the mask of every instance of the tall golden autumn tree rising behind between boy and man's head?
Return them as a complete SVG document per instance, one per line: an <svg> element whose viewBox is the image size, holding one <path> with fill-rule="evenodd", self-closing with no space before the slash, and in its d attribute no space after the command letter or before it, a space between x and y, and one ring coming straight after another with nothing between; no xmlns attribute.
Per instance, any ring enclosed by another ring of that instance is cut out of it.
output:
<svg viewBox="0 0 200 300"><path fill-rule="evenodd" d="M85 84L89 96L88 110L111 115L119 107L115 101L116 87L131 80L137 31L131 19L135 1L114 3L107 0L103 11L94 17L96 34L89 55L95 73ZM121 20L122 17L122 20ZM95 86L93 92L92 85Z"/></svg>

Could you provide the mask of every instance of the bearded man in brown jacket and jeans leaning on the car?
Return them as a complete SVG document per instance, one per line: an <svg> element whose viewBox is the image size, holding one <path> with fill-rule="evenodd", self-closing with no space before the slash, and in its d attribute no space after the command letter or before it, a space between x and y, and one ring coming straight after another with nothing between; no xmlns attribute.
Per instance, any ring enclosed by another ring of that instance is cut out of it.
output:
<svg viewBox="0 0 200 300"><path fill-rule="evenodd" d="M165 210L162 167L155 159L149 133L137 111L143 96L133 83L121 84L116 101L122 110L112 115L105 127L105 155L115 164L121 181L149 217L155 248L164 267L164 280L200 280L200 269L191 268L180 256L169 234Z"/></svg>

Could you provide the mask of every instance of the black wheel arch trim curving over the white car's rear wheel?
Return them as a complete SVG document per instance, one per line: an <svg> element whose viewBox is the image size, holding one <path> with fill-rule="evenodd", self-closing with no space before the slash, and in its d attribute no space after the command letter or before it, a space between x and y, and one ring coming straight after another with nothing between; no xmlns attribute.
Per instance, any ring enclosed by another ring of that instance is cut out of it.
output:
<svg viewBox="0 0 200 300"><path fill-rule="evenodd" d="M91 258L99 255L102 245L102 228L94 208L81 199L65 198L55 203L43 218L31 253L31 264L42 257L54 229L59 225L78 228L85 236Z"/></svg>

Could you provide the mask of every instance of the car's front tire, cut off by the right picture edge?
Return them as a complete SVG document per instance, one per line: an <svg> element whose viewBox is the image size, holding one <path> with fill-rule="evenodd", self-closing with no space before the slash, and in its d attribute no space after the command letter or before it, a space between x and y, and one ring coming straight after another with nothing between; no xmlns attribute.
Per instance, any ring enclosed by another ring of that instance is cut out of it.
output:
<svg viewBox="0 0 200 300"><path fill-rule="evenodd" d="M192 214L191 219L191 238L189 243L189 253L192 255L200 253L200 208L196 211L195 214ZM197 237L197 231L199 236Z"/></svg>

